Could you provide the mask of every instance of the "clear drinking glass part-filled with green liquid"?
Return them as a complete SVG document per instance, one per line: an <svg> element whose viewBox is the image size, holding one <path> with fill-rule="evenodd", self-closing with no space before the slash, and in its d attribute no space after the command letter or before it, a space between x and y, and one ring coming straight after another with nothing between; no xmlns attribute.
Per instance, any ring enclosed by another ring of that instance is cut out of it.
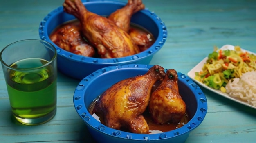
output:
<svg viewBox="0 0 256 143"><path fill-rule="evenodd" d="M55 47L28 39L7 45L0 61L11 111L22 124L38 125L56 113L57 59Z"/></svg>

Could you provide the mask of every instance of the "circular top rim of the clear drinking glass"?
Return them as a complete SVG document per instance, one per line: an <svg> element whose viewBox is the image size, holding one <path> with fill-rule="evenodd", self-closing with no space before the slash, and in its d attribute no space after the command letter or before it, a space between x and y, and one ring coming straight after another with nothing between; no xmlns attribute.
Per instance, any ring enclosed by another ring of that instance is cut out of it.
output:
<svg viewBox="0 0 256 143"><path fill-rule="evenodd" d="M51 60L49 60L47 63L45 63L44 65L41 65L40 67L33 67L33 68L15 68L15 67L11 67L10 65L8 65L7 63L4 62L4 60L2 59L2 53L4 52L5 49L7 49L10 45L13 45L15 43L18 43L18 42L22 42L22 41L40 41L40 42L43 42L43 43L47 43L48 45L50 45L53 49L53 52L54 52L54 55L53 57L51 58ZM40 40L40 39L24 39L24 40L19 40L19 41L16 41L16 42L13 42L13 43L10 43L9 45L5 46L1 52L0 52L0 61L2 62L2 64L6 67L8 67L9 69L13 69L13 70L16 70L16 71L26 71L26 70L34 70L34 69L40 69L42 67L46 67L47 65L51 64L55 59L57 58L57 50L56 48L54 47L54 45L52 45L51 43L45 41L45 40Z"/></svg>

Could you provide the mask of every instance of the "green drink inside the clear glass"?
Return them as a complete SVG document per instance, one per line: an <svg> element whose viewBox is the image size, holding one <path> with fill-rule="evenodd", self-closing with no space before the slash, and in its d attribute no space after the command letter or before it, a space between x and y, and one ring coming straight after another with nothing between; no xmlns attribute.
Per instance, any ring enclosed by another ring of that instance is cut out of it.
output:
<svg viewBox="0 0 256 143"><path fill-rule="evenodd" d="M41 67L46 63L48 61L40 58L27 58L13 63L10 67L29 69ZM51 65L29 72L9 70L7 90L16 117L43 117L55 110L56 76L53 70Z"/></svg>

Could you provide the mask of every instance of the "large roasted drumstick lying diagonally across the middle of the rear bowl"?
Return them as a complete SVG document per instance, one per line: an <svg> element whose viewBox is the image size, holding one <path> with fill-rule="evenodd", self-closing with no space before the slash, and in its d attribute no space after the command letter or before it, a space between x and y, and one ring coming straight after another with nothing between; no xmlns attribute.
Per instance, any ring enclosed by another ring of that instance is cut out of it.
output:
<svg viewBox="0 0 256 143"><path fill-rule="evenodd" d="M64 11L81 22L83 35L101 58L119 58L139 53L130 35L106 17L88 11L81 0L65 0Z"/></svg>

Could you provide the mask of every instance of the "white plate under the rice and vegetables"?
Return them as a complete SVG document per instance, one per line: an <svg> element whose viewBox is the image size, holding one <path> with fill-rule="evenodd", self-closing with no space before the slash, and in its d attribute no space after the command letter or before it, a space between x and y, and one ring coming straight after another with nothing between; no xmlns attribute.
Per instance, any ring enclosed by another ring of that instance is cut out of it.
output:
<svg viewBox="0 0 256 143"><path fill-rule="evenodd" d="M233 45L224 45L222 48L220 48L221 50L234 50L234 46ZM247 51L247 50L244 50L244 49L241 49L242 51ZM250 51L247 51L248 53L252 53L252 54L255 54L253 52L250 52ZM256 55L256 54L255 54ZM207 85L203 84L202 82L199 82L198 80L195 80L195 72L200 72L202 70L202 67L204 65L204 63L206 63L206 60L208 59L208 57L204 58L200 63L198 63L193 69L191 69L189 72L188 72L188 76L189 78L191 78L192 80L194 80L198 85L201 85L202 87L210 90L210 91L213 91L214 93L217 93L225 98L228 98L230 100L233 100L235 102L238 102L240 104L244 104L245 106L249 106L251 108L254 108L256 109L255 106L253 106L252 104L249 104L248 102L245 102L243 100L241 100L240 98L234 98L234 97L231 97L229 96L227 93L223 93L221 92L220 90L217 90L217 89L213 89L211 87L208 87Z"/></svg>

